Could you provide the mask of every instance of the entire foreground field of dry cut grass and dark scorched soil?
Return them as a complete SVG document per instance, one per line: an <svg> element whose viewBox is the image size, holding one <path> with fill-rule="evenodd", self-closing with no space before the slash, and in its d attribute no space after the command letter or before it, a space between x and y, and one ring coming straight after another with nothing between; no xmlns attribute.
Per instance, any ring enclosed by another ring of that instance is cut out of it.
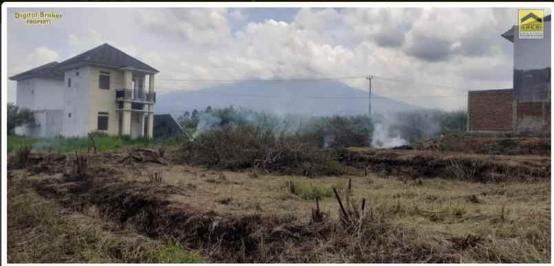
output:
<svg viewBox="0 0 554 266"><path fill-rule="evenodd" d="M147 149L11 158L8 260L66 262L52 253L69 249L71 262L551 262L550 156L337 154L350 174L214 170ZM30 206L81 225L69 238L95 225L103 237L86 243L127 245L69 248L64 238L48 254L39 245L45 221L18 226ZM178 243L186 258L161 259L167 243Z"/></svg>

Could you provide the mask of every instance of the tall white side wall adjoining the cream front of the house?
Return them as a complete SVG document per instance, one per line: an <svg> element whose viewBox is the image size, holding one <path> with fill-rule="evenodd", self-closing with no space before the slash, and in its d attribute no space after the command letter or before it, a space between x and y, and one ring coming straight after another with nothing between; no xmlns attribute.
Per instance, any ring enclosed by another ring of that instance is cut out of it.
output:
<svg viewBox="0 0 554 266"><path fill-rule="evenodd" d="M76 72L79 71L79 76ZM68 87L68 79L71 86ZM90 67L65 71L63 83L63 136L86 136L89 132Z"/></svg>

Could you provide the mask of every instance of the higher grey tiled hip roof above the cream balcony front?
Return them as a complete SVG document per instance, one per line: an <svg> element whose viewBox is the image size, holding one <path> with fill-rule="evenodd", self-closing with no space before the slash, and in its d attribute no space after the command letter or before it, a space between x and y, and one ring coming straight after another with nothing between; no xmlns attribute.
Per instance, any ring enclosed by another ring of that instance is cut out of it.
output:
<svg viewBox="0 0 554 266"><path fill-rule="evenodd" d="M63 68L66 65L79 64L83 62L106 65L114 68L134 68L148 72L158 72L158 70L152 68L150 65L139 61L139 59L131 57L129 54L125 54L125 52L122 52L107 43L59 63L59 67Z"/></svg>

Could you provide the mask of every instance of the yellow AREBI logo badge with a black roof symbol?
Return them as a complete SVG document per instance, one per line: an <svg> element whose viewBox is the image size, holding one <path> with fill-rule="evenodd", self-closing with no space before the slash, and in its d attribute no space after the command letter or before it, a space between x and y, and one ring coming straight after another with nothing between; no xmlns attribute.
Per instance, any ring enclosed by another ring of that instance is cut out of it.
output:
<svg viewBox="0 0 554 266"><path fill-rule="evenodd" d="M544 38L544 10L517 10L520 39Z"/></svg>

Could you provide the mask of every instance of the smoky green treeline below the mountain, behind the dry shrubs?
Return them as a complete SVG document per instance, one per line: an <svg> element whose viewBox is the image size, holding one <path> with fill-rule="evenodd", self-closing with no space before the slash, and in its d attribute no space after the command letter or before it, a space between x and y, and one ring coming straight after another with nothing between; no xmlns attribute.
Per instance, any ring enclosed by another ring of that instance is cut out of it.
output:
<svg viewBox="0 0 554 266"><path fill-rule="evenodd" d="M220 127L258 127L281 136L297 136L319 147L370 146L374 135L398 137L409 145L442 133L466 131L465 110L417 110L396 114L307 116L278 115L247 108L212 108L193 110L178 116L178 123L190 138ZM384 125L378 126L376 125ZM385 132L375 132L384 130ZM379 134L374 134L379 133Z"/></svg>

